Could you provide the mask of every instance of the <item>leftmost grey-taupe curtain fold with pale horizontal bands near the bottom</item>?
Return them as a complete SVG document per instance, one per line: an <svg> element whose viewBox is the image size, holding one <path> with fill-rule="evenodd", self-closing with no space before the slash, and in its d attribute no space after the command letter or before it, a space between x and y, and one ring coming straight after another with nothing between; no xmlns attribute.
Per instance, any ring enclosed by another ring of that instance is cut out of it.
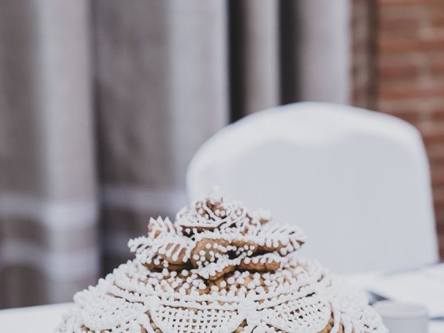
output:
<svg viewBox="0 0 444 333"><path fill-rule="evenodd" d="M0 307L99 272L88 26L86 1L2 3Z"/></svg>

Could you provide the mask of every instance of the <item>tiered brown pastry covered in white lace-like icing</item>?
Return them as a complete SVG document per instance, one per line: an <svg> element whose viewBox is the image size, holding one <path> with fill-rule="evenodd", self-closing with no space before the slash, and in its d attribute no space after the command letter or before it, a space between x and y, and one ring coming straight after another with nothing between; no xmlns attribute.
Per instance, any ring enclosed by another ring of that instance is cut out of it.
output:
<svg viewBox="0 0 444 333"><path fill-rule="evenodd" d="M305 235L210 194L151 219L135 259L74 296L58 333L387 332L363 293L295 255Z"/></svg>

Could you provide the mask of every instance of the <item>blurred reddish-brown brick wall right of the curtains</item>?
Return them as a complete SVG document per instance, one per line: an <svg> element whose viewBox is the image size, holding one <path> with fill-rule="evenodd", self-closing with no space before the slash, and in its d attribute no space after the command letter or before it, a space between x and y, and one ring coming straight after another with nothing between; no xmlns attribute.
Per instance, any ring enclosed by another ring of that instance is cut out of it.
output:
<svg viewBox="0 0 444 333"><path fill-rule="evenodd" d="M375 45L369 49L373 65L367 67L360 65L359 48L353 49L357 67L352 75L354 103L362 104L358 92L363 84L355 78L356 73L371 68L364 87L375 94L367 105L409 121L422 133L432 167L436 225L444 258L444 1L352 3L354 44L364 38L355 22L361 10L364 16L373 18L370 22L374 29L366 25L370 31L367 40Z"/></svg>

